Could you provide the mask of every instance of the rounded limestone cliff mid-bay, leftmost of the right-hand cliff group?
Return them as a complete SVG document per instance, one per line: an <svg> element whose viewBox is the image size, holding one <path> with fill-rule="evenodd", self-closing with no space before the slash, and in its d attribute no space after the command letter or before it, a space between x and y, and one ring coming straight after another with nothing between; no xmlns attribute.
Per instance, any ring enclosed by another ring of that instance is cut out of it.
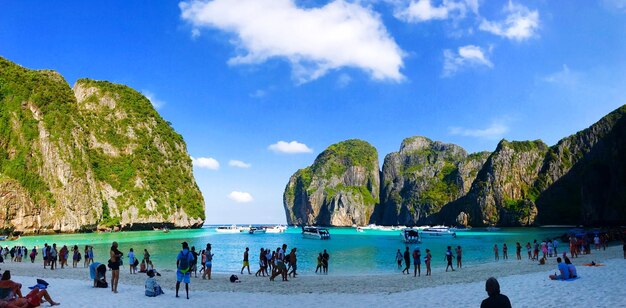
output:
<svg viewBox="0 0 626 308"><path fill-rule="evenodd" d="M367 224L379 201L378 170L378 152L365 141L329 146L289 179L283 195L287 223Z"/></svg>

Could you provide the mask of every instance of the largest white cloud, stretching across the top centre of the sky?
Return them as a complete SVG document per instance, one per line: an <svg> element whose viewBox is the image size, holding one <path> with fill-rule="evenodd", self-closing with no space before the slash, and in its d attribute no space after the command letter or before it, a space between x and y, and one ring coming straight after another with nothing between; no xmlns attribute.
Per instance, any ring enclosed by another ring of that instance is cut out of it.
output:
<svg viewBox="0 0 626 308"><path fill-rule="evenodd" d="M401 81L403 51L370 8L343 0L299 8L294 0L191 0L179 3L194 29L234 33L240 54L232 65L284 58L297 82L352 67L373 79Z"/></svg>

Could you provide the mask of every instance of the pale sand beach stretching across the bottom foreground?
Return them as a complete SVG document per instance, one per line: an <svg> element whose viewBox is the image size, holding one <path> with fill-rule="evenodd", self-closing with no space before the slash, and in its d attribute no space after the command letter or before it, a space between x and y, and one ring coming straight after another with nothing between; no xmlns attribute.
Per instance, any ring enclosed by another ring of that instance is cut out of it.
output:
<svg viewBox="0 0 626 308"><path fill-rule="evenodd" d="M587 267L595 261L604 266ZM572 259L581 278L574 281L552 281L549 274L556 271L556 258L547 265L514 258L488 264L466 264L455 272L433 269L431 277L416 277L389 273L381 275L335 276L302 273L288 282L270 282L268 278L238 275L241 283L230 283L231 273L214 274L212 280L192 278L190 299L174 297L175 274L162 272L158 277L165 294L156 298L144 296L145 274L130 275L121 270L119 293L110 289L91 287L88 270L84 268L44 270L41 262L35 264L1 264L2 270L11 270L13 280L24 285L22 291L35 284L35 278L50 283L49 292L64 307L177 307L182 305L250 307L276 303L297 303L309 306L382 306L395 307L478 307L486 298L485 280L496 277L501 291L514 307L624 307L626 288L626 260L622 247L593 251L591 255ZM332 264L331 264L332 266ZM390 264L390 268L393 268ZM424 272L422 272L423 274ZM110 273L107 273L110 280ZM96 304L97 303L97 304ZM44 304L46 306L47 304Z"/></svg>

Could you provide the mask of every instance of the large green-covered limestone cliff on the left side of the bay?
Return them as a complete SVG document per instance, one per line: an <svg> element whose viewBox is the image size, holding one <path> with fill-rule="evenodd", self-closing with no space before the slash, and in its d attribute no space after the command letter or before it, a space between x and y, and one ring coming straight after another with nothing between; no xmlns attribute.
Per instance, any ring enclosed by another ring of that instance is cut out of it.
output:
<svg viewBox="0 0 626 308"><path fill-rule="evenodd" d="M182 137L138 92L0 58L0 229L200 226Z"/></svg>

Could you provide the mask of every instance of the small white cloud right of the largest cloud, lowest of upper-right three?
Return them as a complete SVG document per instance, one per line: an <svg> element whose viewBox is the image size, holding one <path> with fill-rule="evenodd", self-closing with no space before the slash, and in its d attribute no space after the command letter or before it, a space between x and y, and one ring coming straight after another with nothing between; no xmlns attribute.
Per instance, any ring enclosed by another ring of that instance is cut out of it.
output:
<svg viewBox="0 0 626 308"><path fill-rule="evenodd" d="M493 68L493 63L487 58L485 52L478 46L467 45L459 47L458 53L449 49L443 51L443 77L456 74L463 67L486 66Z"/></svg>

